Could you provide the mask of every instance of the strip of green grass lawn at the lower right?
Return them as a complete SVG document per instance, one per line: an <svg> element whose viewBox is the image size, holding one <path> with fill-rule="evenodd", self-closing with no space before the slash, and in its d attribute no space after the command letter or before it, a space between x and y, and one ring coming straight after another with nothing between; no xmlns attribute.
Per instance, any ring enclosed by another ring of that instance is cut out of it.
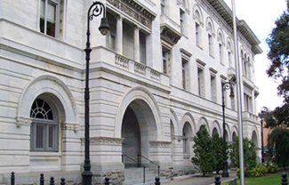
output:
<svg viewBox="0 0 289 185"><path fill-rule="evenodd" d="M281 179L281 174L272 174L255 178L245 178L245 185L278 185L281 184ZM237 179L237 184L240 184L240 179ZM229 181L221 183L221 185L229 185Z"/></svg>

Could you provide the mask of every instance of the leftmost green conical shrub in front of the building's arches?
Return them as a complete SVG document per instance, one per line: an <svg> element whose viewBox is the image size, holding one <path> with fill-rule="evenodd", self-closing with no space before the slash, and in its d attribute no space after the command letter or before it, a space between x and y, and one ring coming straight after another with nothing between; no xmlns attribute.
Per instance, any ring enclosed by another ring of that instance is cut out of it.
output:
<svg viewBox="0 0 289 185"><path fill-rule="evenodd" d="M191 162L199 167L203 176L206 173L213 173L215 167L213 142L206 128L199 130L193 140L195 156L191 158Z"/></svg>

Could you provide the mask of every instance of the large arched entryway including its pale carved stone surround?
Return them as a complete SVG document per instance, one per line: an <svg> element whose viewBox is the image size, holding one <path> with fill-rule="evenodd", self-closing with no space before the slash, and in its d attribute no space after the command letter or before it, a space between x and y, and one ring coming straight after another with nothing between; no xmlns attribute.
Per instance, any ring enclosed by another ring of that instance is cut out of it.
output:
<svg viewBox="0 0 289 185"><path fill-rule="evenodd" d="M116 137L119 135L124 139L124 165L132 165L132 159L138 160L138 155L143 156L140 157L141 164L149 164L149 160L157 162L159 157L152 157L150 154L150 143L157 141L163 126L160 125L160 111L152 94L143 87L132 88L124 95L117 112ZM125 162L124 156L130 157L131 160Z"/></svg>

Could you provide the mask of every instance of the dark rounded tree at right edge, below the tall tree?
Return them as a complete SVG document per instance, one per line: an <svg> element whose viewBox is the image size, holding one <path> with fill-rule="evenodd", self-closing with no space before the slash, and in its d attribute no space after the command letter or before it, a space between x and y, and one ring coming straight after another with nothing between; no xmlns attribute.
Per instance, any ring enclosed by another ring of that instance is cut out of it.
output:
<svg viewBox="0 0 289 185"><path fill-rule="evenodd" d="M289 165L289 130L284 128L276 128L269 134L268 137L268 147L269 150L272 150L273 147L276 147L276 162L277 165L282 166L285 169L285 166Z"/></svg>

